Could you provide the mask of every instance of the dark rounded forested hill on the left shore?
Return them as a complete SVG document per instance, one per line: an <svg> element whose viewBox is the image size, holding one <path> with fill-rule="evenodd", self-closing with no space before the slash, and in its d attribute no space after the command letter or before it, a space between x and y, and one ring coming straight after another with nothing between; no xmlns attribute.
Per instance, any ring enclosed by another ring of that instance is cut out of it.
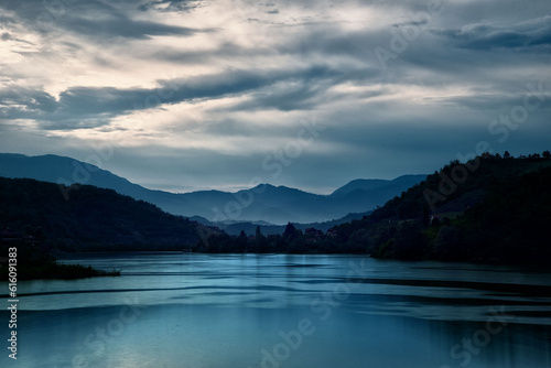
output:
<svg viewBox="0 0 551 368"><path fill-rule="evenodd" d="M197 242L198 227L111 190L0 177L3 237L31 236L62 250L181 250Z"/></svg>

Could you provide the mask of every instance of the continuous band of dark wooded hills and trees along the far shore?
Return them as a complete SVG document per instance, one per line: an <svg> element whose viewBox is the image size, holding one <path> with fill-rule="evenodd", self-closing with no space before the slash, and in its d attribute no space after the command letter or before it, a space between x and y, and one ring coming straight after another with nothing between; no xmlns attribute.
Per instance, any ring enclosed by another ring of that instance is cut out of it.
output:
<svg viewBox="0 0 551 368"><path fill-rule="evenodd" d="M551 153L452 161L361 219L327 231L288 224L282 235L229 236L114 191L0 178L0 226L43 249L364 253L377 258L551 260ZM29 240L31 239L31 240Z"/></svg>

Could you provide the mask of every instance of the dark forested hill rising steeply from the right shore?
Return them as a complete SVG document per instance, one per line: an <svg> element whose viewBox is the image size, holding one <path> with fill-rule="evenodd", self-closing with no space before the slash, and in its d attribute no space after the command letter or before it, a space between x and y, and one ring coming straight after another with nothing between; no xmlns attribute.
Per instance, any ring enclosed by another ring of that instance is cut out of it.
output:
<svg viewBox="0 0 551 368"><path fill-rule="evenodd" d="M374 257L467 261L551 260L551 159L484 154L451 162L370 216L332 230Z"/></svg>

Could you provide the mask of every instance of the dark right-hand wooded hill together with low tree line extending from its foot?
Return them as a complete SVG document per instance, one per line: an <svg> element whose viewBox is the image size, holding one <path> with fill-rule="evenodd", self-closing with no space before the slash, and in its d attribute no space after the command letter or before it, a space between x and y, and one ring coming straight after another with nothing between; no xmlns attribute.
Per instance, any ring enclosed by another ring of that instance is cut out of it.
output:
<svg viewBox="0 0 551 368"><path fill-rule="evenodd" d="M458 161L370 215L325 234L288 224L282 235L203 237L191 251L361 253L385 259L439 259L485 262L551 260L547 226L551 220L551 154L512 158L483 154L476 170L446 199L431 209L424 195L437 191Z"/></svg>

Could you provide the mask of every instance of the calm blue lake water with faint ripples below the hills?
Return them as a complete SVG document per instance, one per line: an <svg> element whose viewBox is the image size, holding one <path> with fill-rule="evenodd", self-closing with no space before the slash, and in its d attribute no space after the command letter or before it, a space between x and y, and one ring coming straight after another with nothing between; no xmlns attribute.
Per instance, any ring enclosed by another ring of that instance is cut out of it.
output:
<svg viewBox="0 0 551 368"><path fill-rule="evenodd" d="M3 347L1 367L551 367L541 270L282 255L75 261L122 275L20 282L18 360Z"/></svg>

